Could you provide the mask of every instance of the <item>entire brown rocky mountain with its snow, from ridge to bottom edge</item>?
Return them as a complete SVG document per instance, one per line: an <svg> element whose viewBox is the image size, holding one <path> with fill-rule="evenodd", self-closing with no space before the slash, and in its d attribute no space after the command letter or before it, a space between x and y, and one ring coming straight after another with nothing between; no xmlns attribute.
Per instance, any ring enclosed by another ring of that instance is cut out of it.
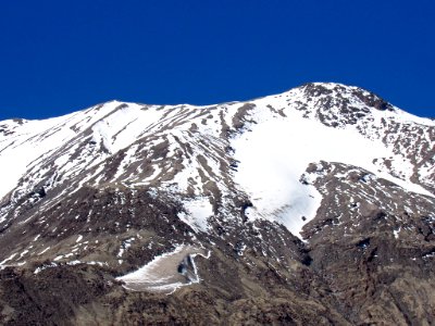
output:
<svg viewBox="0 0 435 326"><path fill-rule="evenodd" d="M1 324L435 324L434 156L338 84L0 122Z"/></svg>

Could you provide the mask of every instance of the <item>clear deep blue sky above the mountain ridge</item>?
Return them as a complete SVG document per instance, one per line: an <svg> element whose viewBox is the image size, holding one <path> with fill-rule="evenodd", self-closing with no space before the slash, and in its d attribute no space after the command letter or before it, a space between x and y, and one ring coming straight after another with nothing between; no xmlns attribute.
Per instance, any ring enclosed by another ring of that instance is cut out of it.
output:
<svg viewBox="0 0 435 326"><path fill-rule="evenodd" d="M307 82L435 116L435 1L0 2L0 120L112 99L209 104Z"/></svg>

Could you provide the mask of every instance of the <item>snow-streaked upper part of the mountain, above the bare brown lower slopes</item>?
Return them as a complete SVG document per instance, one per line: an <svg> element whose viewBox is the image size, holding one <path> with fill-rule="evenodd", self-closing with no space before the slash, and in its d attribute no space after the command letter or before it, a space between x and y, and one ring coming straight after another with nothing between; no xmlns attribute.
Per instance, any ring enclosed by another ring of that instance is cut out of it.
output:
<svg viewBox="0 0 435 326"><path fill-rule="evenodd" d="M5 121L0 221L23 197L33 203L52 192L47 209L85 185L105 185L178 196L179 217L198 231L213 214L231 216L234 198L243 198L248 218L277 221L299 236L322 199L300 178L321 160L433 197L434 129L431 120L337 84L211 106L113 101L46 121Z"/></svg>

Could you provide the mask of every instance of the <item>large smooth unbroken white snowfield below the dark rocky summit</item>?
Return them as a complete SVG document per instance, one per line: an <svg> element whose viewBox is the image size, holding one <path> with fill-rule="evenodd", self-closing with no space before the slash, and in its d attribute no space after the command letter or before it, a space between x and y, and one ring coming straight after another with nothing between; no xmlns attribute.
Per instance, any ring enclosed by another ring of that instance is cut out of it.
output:
<svg viewBox="0 0 435 326"><path fill-rule="evenodd" d="M285 117L270 116L263 108L271 102L281 108L283 103L269 98L258 102L252 114L257 124L232 142L235 158L240 162L235 180L253 203L247 212L250 218L283 223L299 236L302 226L315 216L322 200L313 186L300 183L300 177L310 163L321 160L359 166L408 191L434 197L423 187L398 179L374 163L378 158L402 161L380 139L362 137L355 127L327 127L290 108L283 111ZM398 167L410 175L412 166L402 163Z"/></svg>

